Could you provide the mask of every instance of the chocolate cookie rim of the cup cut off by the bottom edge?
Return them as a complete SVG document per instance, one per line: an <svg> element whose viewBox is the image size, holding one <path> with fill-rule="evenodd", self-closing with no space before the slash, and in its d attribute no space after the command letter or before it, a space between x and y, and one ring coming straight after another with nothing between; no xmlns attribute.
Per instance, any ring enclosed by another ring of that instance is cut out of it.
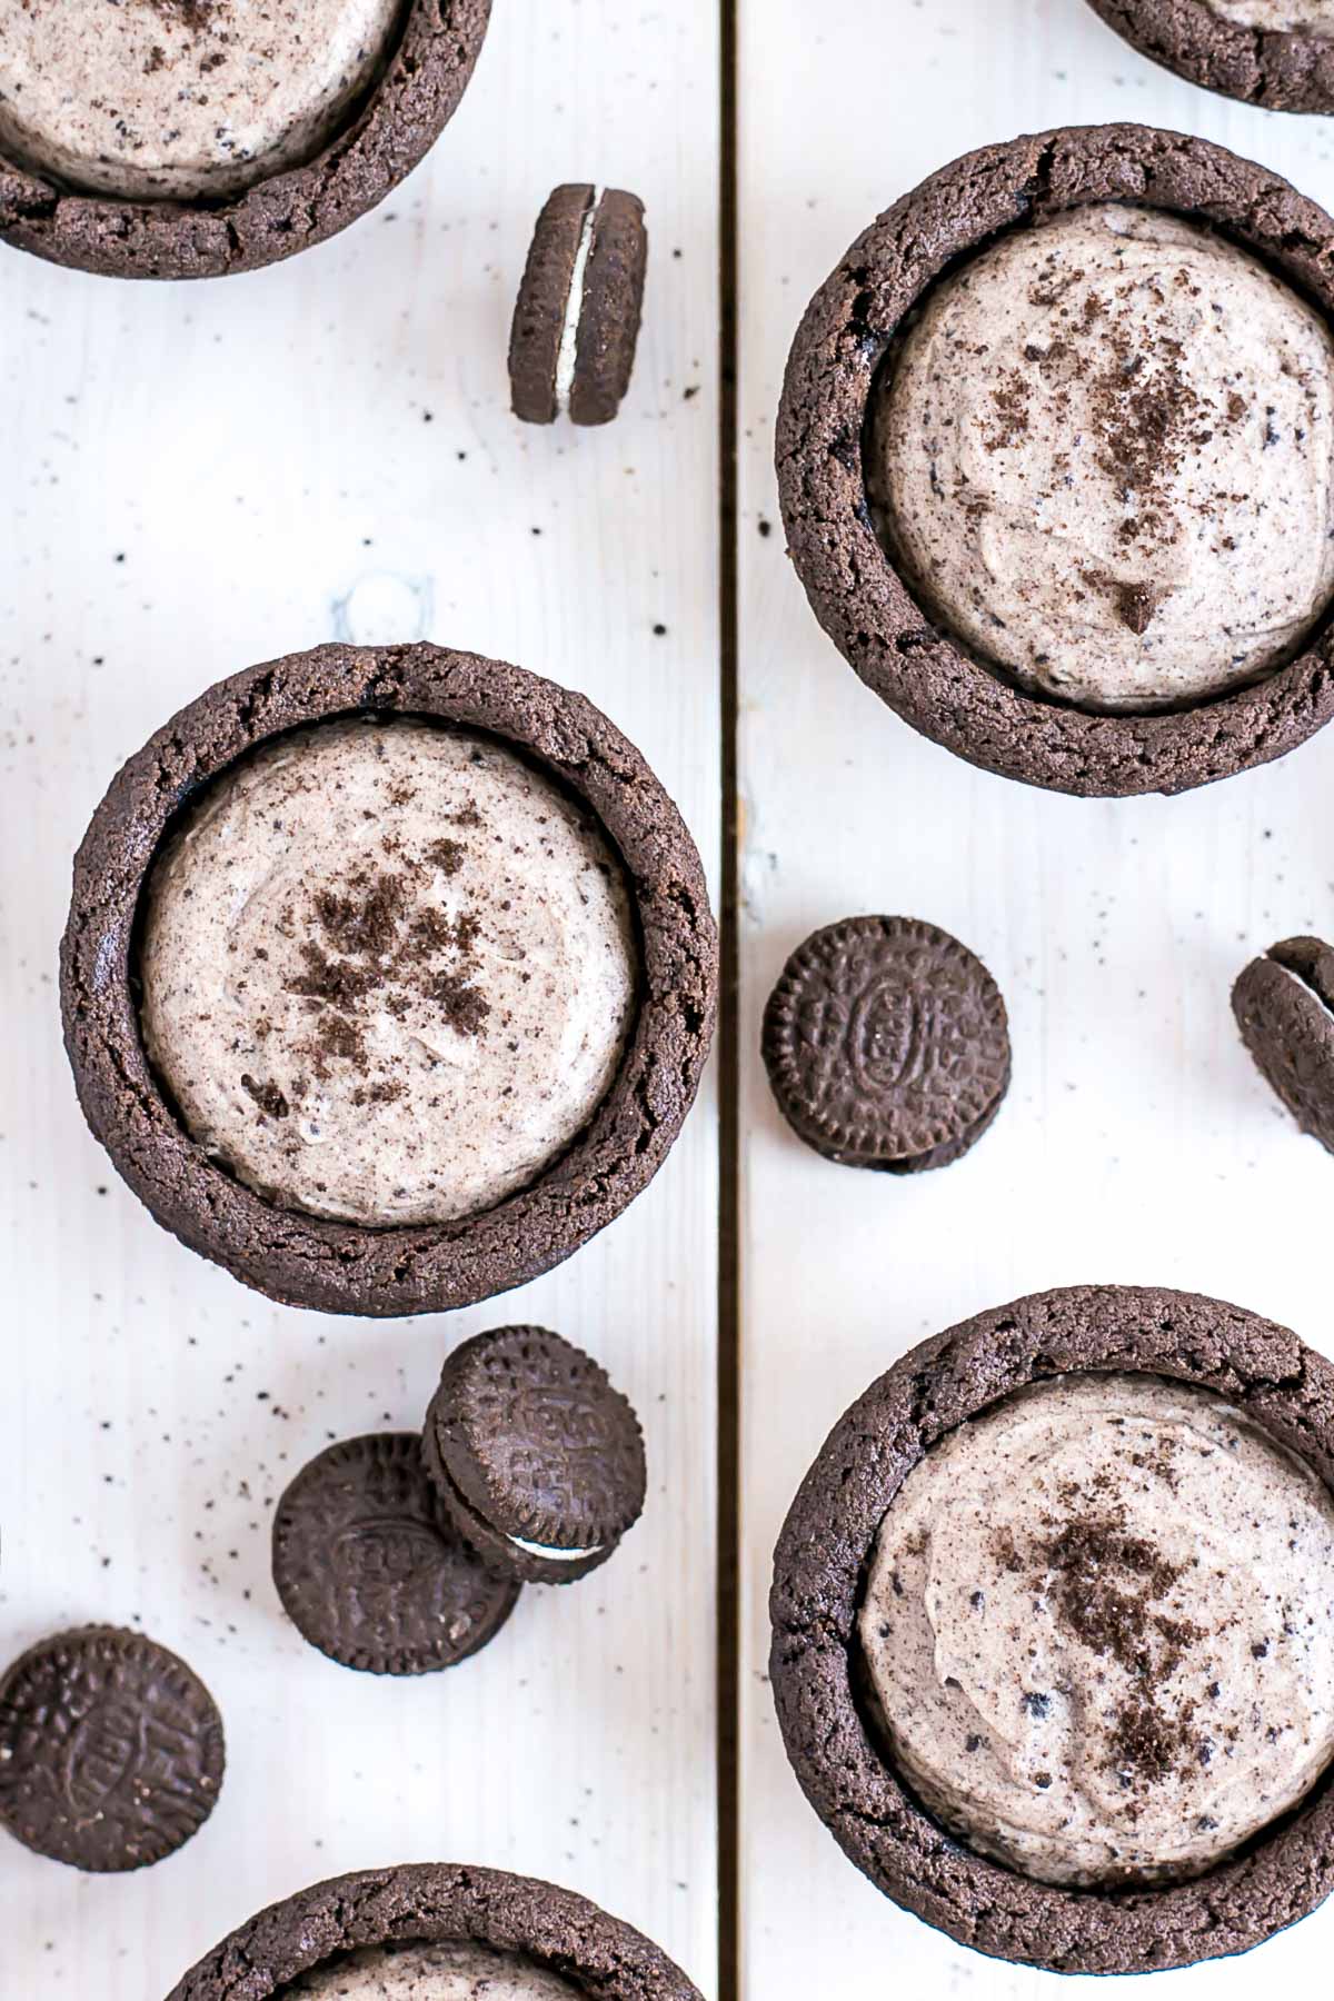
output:
<svg viewBox="0 0 1334 2001"><path fill-rule="evenodd" d="M586 1897L458 1863L362 1869L284 1897L200 1959L168 2001L270 2001L344 1953L442 1941L522 1955L600 2001L700 2001L658 1945Z"/></svg>

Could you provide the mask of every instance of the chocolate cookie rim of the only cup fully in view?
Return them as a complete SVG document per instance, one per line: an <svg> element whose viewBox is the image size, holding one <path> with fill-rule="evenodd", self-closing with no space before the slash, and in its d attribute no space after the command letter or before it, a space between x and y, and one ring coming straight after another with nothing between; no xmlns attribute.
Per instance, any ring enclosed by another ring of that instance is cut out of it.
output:
<svg viewBox="0 0 1334 2001"><path fill-rule="evenodd" d="M176 814L256 744L352 714L434 716L536 758L596 814L636 908L638 1011L612 1089L536 1181L454 1223L372 1229L266 1203L188 1137L142 1045L136 916ZM640 752L582 694L432 644L316 646L246 668L182 708L96 808L60 948L78 1099L128 1187L164 1229L270 1299L366 1317L492 1299L612 1223L662 1167L694 1103L716 980L700 856Z"/></svg>

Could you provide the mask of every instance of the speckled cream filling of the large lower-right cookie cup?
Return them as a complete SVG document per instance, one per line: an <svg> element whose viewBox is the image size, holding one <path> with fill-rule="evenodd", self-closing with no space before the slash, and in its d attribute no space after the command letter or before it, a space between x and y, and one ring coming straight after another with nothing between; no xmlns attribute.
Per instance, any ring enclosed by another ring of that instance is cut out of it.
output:
<svg viewBox="0 0 1334 2001"><path fill-rule="evenodd" d="M1200 1875L1334 1759L1334 1499L1200 1389L1058 1377L912 1469L860 1641L894 1763L970 1847Z"/></svg>

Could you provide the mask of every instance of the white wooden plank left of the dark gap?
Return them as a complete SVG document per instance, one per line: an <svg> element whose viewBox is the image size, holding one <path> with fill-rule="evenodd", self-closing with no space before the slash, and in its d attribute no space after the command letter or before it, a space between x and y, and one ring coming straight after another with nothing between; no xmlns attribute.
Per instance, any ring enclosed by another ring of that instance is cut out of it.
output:
<svg viewBox="0 0 1334 2001"><path fill-rule="evenodd" d="M158 1869L88 1879L0 1841L4 2001L156 2001L268 1899L428 1857L580 1889L714 1993L712 1079L658 1183L564 1271L444 1321L320 1319L122 1189L52 974L120 758L214 678L332 634L584 688L716 880L716 70L712 6L508 0L428 164L338 242L198 288L0 254L0 1659L142 1625L230 1741L218 1811ZM640 364L606 432L508 414L514 288L566 178L648 206ZM644 1523L452 1673L330 1665L272 1591L276 1493L332 1437L420 1423L446 1349L518 1319L634 1397Z"/></svg>

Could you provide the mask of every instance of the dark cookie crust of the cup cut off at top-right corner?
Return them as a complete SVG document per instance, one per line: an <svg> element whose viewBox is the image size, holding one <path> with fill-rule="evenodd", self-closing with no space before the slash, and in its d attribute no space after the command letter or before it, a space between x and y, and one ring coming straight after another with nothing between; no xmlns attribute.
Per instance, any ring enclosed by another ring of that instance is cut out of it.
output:
<svg viewBox="0 0 1334 2001"><path fill-rule="evenodd" d="M1206 0L1090 0L1108 28L1192 84L1274 112L1334 110L1334 36L1242 28Z"/></svg>

